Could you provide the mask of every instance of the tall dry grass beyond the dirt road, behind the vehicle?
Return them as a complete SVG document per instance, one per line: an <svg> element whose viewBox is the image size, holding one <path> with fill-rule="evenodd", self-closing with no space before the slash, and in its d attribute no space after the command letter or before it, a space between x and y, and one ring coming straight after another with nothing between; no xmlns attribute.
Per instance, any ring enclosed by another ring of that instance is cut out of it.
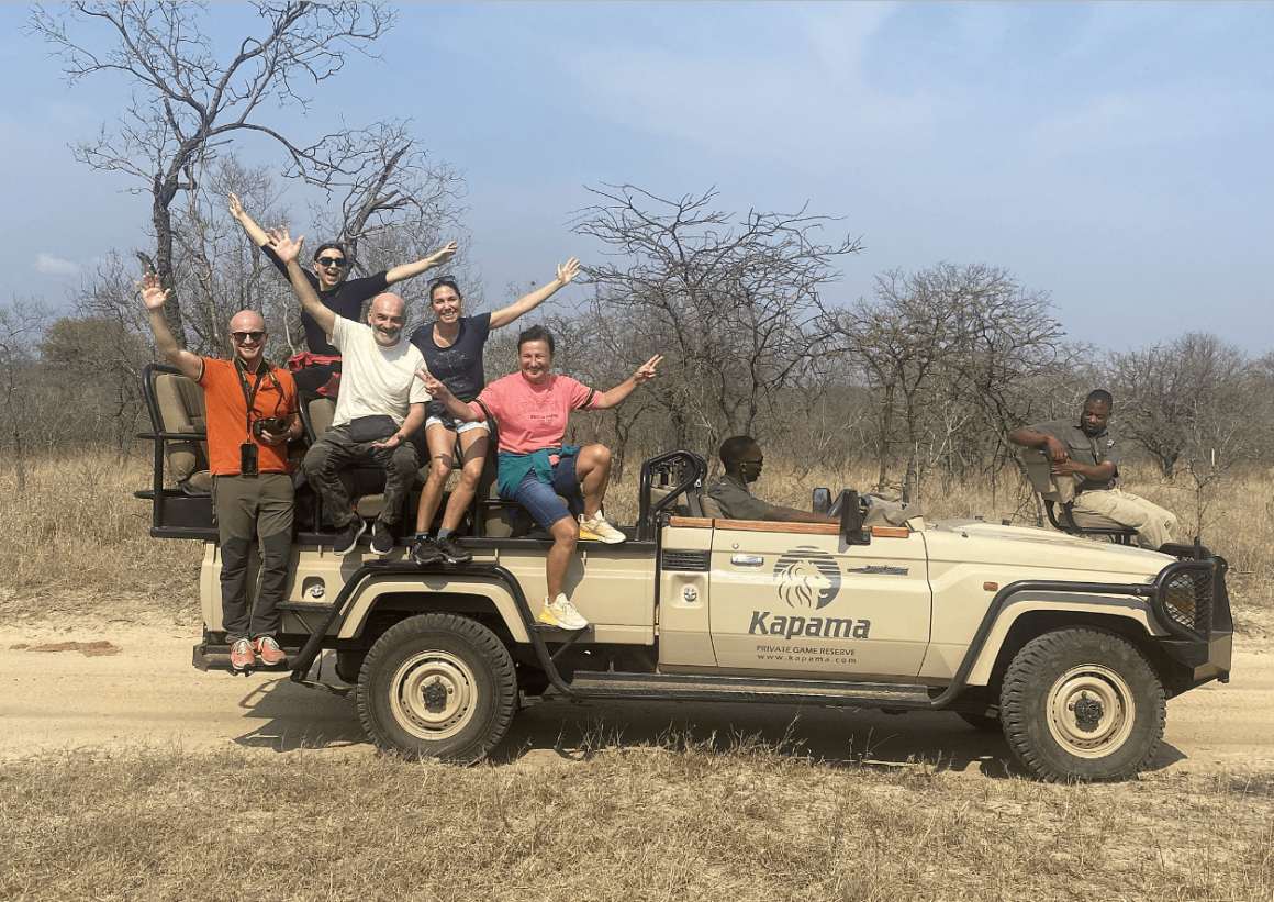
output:
<svg viewBox="0 0 1274 902"><path fill-rule="evenodd" d="M865 490L874 479L868 464L799 469L798 461L772 450L755 492L776 505L808 508L815 485ZM0 614L89 613L85 609L110 595L126 599L125 606L197 617L201 549L192 541L150 539L149 506L132 497L149 480L149 459L92 452L32 462L22 494L13 473L0 471L0 522L6 525L0 540ZM1121 485L1175 511L1185 526L1195 525L1195 498L1185 479L1166 483L1152 468L1134 465L1125 468ZM1033 496L1012 473L995 484L944 483L935 475L924 510L929 520L981 516L990 522L1034 522L1036 517ZM636 470L612 487L608 515L634 521ZM1218 484L1209 497L1203 538L1231 563L1241 626L1249 613L1263 619L1274 609L1274 474L1252 468Z"/></svg>

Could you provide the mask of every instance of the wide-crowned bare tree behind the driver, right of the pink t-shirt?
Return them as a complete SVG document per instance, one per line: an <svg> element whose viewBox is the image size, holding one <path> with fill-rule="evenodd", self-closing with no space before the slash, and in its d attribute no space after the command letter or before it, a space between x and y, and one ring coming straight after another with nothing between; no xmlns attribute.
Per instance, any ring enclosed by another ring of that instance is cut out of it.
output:
<svg viewBox="0 0 1274 902"><path fill-rule="evenodd" d="M837 278L833 261L861 245L820 243L834 220L804 209L749 210L735 222L716 209L715 189L671 200L633 185L590 191L601 203L576 211L575 232L618 259L583 269L596 285L596 320L624 366L665 355L648 394L673 442L696 447L752 431L817 358L819 289Z"/></svg>

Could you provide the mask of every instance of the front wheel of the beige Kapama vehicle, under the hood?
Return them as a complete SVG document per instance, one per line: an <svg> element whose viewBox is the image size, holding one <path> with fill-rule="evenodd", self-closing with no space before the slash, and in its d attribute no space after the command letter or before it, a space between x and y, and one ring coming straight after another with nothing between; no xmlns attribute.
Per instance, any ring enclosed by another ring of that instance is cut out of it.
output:
<svg viewBox="0 0 1274 902"><path fill-rule="evenodd" d="M1028 642L1000 689L1013 754L1050 782L1127 780L1159 748L1167 702L1145 656L1099 629Z"/></svg>

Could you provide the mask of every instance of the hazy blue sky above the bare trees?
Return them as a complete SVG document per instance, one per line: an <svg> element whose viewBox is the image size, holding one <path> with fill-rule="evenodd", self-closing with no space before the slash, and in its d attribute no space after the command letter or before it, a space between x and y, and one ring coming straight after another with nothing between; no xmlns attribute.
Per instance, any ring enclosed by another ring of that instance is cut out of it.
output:
<svg viewBox="0 0 1274 902"><path fill-rule="evenodd" d="M352 59L308 115L271 124L303 141L341 116L410 117L465 172L464 252L496 299L559 259L596 257L569 231L585 186L715 185L740 215L808 204L841 218L829 241L861 236L832 302L870 296L887 270L982 262L1051 292L1077 340L1124 350L1199 330L1274 348L1274 4L396 11L383 59ZM215 4L214 42L247 13ZM124 83L68 87L27 14L0 5L0 290L60 304L108 248L144 246L147 204L68 148L113 118Z"/></svg>

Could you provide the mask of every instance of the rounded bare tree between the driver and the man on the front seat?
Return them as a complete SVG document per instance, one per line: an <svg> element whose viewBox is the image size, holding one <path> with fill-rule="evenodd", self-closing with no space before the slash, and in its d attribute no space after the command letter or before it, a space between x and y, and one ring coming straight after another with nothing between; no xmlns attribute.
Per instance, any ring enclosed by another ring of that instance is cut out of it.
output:
<svg viewBox="0 0 1274 902"><path fill-rule="evenodd" d="M885 273L874 301L831 321L834 353L856 362L878 392L878 490L888 485L898 437L906 501L920 501L938 460L981 465L994 455L1020 426L1020 386L1070 354L1049 294L981 264Z"/></svg>

